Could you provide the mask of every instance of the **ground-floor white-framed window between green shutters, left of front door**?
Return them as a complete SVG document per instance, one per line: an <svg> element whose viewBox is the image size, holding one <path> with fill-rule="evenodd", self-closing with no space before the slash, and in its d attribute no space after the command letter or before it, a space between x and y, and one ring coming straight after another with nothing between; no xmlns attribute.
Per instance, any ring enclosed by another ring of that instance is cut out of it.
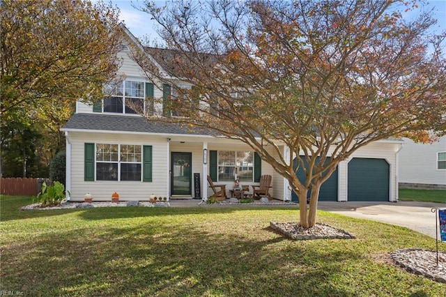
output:
<svg viewBox="0 0 446 297"><path fill-rule="evenodd" d="M96 144L96 181L141 181L141 146Z"/></svg>

